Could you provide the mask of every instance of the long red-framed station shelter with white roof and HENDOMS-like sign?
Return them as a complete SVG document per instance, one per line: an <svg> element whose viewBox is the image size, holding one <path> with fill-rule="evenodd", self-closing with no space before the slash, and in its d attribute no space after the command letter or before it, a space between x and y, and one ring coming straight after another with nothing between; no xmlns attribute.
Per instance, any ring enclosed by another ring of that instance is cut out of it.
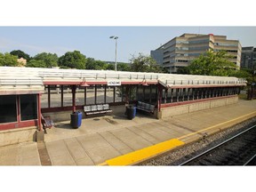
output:
<svg viewBox="0 0 256 192"><path fill-rule="evenodd" d="M65 121L70 112L100 103L115 113L140 101L155 106L156 118L189 113L236 102L244 85L244 79L228 76L0 67L0 132L42 131L42 114Z"/></svg>

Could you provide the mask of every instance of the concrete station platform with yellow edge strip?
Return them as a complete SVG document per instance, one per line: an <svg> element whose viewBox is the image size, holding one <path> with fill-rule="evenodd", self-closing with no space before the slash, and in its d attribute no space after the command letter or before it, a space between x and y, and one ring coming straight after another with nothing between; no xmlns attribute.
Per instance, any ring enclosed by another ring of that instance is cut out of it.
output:
<svg viewBox="0 0 256 192"><path fill-rule="evenodd" d="M0 148L1 165L132 165L256 116L256 100L161 120L137 113L56 123L36 142Z"/></svg>

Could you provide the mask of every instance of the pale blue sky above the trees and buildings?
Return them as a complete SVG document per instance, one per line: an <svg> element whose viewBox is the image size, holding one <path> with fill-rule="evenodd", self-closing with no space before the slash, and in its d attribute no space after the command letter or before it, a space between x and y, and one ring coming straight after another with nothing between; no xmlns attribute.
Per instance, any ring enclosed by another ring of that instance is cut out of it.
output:
<svg viewBox="0 0 256 192"><path fill-rule="evenodd" d="M117 61L128 62L132 55L150 54L183 33L227 36L239 40L242 46L256 46L256 27L0 27L0 52L21 50L30 56L40 52L57 53L78 50L95 60L115 60L115 40L118 36Z"/></svg>

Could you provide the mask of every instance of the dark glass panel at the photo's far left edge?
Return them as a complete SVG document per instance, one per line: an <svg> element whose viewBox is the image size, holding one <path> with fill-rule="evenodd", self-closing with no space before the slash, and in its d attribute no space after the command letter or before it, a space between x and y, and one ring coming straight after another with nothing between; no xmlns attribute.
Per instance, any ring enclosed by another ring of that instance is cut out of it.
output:
<svg viewBox="0 0 256 192"><path fill-rule="evenodd" d="M0 124L11 122L17 122L16 96L0 96Z"/></svg>

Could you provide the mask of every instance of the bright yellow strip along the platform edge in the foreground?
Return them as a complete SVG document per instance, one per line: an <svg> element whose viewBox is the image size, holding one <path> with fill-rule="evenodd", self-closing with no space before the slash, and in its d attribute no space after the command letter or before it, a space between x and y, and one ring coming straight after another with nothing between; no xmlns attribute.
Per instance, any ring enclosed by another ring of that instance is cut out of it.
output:
<svg viewBox="0 0 256 192"><path fill-rule="evenodd" d="M129 165L140 163L143 160L148 159L149 157L159 155L168 151L172 148L176 148L178 146L184 145L185 143L181 140L172 139L167 140L161 143L158 143L154 146L150 146L148 148L142 148L137 151L133 151L129 154L125 154L123 156L117 156L112 159L108 159L105 163L99 165Z"/></svg>

